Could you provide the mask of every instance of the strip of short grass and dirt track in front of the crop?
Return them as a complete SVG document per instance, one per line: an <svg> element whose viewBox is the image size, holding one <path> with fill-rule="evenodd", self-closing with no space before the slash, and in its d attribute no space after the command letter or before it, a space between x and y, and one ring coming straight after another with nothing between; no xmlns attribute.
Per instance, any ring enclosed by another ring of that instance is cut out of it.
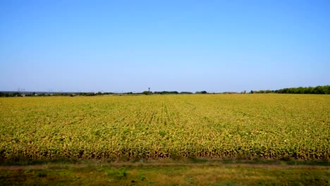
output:
<svg viewBox="0 0 330 186"><path fill-rule="evenodd" d="M0 185L329 185L329 162L157 159L1 163Z"/></svg>

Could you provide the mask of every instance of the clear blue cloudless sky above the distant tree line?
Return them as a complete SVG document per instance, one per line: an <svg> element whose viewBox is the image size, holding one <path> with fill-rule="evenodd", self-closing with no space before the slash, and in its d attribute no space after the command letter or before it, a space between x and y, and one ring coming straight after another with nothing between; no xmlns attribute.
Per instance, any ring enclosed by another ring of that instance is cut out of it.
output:
<svg viewBox="0 0 330 186"><path fill-rule="evenodd" d="M330 1L0 1L0 90L330 84Z"/></svg>

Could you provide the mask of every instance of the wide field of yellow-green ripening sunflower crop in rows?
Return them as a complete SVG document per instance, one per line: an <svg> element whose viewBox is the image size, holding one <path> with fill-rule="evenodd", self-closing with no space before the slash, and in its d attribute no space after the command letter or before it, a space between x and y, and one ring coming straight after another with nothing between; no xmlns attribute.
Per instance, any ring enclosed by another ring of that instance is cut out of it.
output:
<svg viewBox="0 0 330 186"><path fill-rule="evenodd" d="M329 161L330 96L0 98L0 158Z"/></svg>

